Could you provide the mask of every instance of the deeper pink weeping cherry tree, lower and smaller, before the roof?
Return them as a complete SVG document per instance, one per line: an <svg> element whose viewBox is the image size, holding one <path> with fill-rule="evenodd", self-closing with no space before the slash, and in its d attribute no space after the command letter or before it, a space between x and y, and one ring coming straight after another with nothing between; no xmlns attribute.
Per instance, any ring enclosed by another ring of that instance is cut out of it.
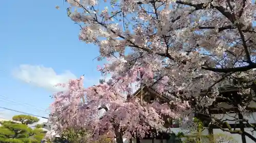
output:
<svg viewBox="0 0 256 143"><path fill-rule="evenodd" d="M189 110L186 103L170 108L169 104L146 103L138 98L127 100L121 91L118 92L118 88L107 83L83 88L82 80L83 77L71 80L67 92L54 96L51 121L57 133L70 127L87 129L95 139L107 134L122 142L122 137L135 134L144 137L150 129L167 131L163 128L162 115L178 119ZM84 95L86 102L81 102ZM100 115L101 109L105 110L103 115Z"/></svg>

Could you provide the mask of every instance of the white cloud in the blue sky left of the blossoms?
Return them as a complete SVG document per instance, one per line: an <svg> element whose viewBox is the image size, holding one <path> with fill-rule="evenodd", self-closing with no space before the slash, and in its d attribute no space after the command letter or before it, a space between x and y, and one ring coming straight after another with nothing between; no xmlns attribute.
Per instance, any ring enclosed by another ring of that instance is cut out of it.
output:
<svg viewBox="0 0 256 143"><path fill-rule="evenodd" d="M17 69L13 70L12 74L14 77L24 82L51 92L63 90L61 87L55 87L56 84L66 83L69 79L77 78L70 71L57 74L52 68L40 65L20 65Z"/></svg>

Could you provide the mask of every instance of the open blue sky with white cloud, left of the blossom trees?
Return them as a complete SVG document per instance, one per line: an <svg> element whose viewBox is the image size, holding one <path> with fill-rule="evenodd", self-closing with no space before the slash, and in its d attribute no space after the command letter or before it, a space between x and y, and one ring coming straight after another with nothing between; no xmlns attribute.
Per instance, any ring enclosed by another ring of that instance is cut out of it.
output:
<svg viewBox="0 0 256 143"><path fill-rule="evenodd" d="M78 40L79 26L67 17L67 4L62 0L1 4L0 106L47 116L41 110L52 102L54 82L85 74L86 86L97 83L96 66L102 63L93 59L98 48ZM19 113L0 108L0 118L15 114Z"/></svg>

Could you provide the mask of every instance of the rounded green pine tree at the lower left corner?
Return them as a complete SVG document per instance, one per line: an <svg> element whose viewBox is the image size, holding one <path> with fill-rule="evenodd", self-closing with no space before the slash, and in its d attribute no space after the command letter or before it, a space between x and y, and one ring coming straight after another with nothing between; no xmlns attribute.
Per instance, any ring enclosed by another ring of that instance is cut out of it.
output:
<svg viewBox="0 0 256 143"><path fill-rule="evenodd" d="M0 142L15 143L38 143L45 136L45 131L41 128L32 129L29 125L38 122L39 119L18 115L13 117L13 121L2 121L0 127Z"/></svg>

